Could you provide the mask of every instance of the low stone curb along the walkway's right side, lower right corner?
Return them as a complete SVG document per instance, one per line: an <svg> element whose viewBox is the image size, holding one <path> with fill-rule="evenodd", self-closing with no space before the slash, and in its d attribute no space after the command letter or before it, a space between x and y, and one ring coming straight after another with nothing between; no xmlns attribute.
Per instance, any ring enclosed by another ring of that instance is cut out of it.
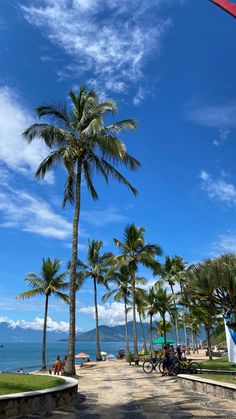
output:
<svg viewBox="0 0 236 419"><path fill-rule="evenodd" d="M215 397L236 400L235 384L223 383L220 381L208 380L206 378L198 378L185 374L179 374L178 381L180 387L184 390L211 394Z"/></svg>

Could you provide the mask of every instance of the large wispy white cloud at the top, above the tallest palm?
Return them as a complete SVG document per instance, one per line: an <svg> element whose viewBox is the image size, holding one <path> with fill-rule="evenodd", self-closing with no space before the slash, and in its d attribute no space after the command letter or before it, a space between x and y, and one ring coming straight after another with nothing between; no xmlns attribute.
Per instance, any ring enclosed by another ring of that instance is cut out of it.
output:
<svg viewBox="0 0 236 419"><path fill-rule="evenodd" d="M59 70L60 78L86 71L100 90L125 92L144 83L146 62L160 52L170 26L160 18L161 5L166 0L25 0L21 10L72 58Z"/></svg>

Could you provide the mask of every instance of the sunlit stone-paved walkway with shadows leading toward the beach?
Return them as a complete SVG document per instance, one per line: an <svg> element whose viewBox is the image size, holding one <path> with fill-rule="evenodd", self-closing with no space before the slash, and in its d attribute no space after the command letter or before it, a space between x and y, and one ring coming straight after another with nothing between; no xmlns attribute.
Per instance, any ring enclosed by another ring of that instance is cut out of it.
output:
<svg viewBox="0 0 236 419"><path fill-rule="evenodd" d="M183 393L175 377L162 377L155 372L149 376L142 368L129 366L125 361L106 361L93 369L81 369L80 377L75 406L54 411L45 418L236 418L236 402Z"/></svg>

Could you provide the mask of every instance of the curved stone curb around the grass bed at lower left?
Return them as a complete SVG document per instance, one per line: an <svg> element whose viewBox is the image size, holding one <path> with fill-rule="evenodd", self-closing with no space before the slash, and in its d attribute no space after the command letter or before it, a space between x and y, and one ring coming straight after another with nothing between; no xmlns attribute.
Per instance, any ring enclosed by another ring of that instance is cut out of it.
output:
<svg viewBox="0 0 236 419"><path fill-rule="evenodd" d="M65 380L65 384L44 390L0 396L0 418L43 413L73 403L77 397L78 381L70 377L60 378Z"/></svg>

